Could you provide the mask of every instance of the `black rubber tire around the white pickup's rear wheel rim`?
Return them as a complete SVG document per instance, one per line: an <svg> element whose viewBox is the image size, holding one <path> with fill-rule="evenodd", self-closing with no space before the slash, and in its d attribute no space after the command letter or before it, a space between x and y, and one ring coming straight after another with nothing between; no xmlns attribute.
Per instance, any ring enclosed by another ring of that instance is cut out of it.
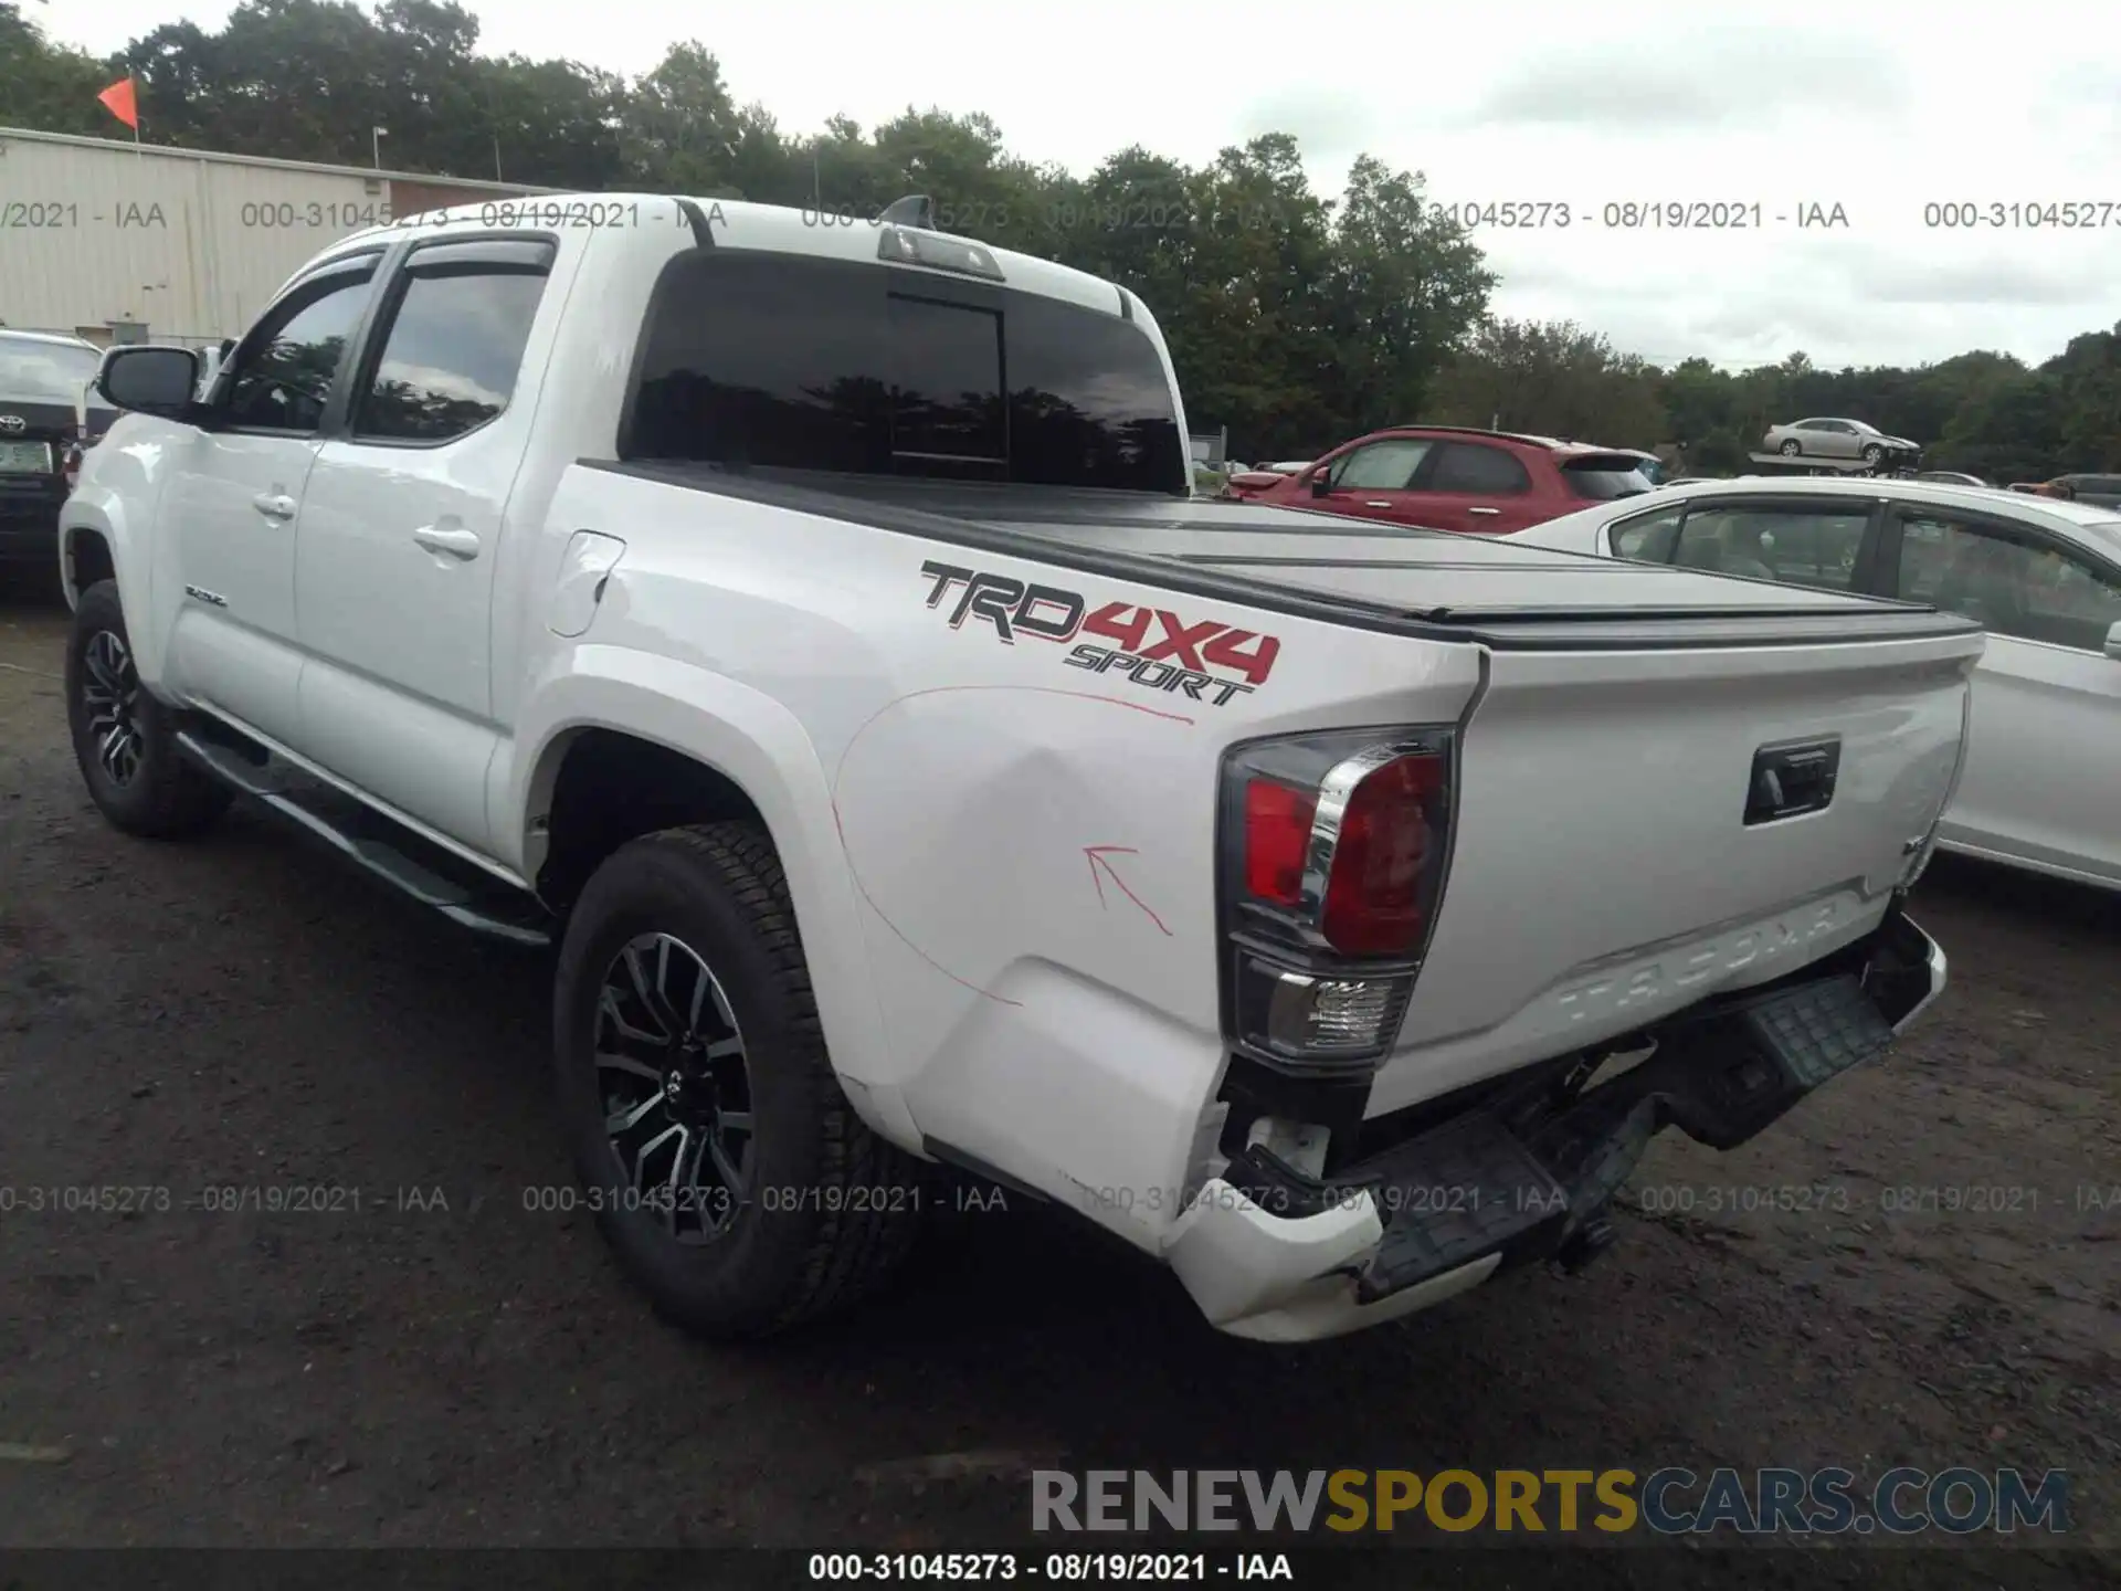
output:
<svg viewBox="0 0 2121 1591"><path fill-rule="evenodd" d="M728 995L753 1116L747 1196L725 1232L681 1245L643 1209L604 1131L598 1003L647 933L689 948ZM876 1290L918 1232L916 1162L876 1137L825 1052L781 857L757 823L664 829L615 851L568 914L554 978L554 1090L590 1209L655 1309L711 1339L755 1339Z"/></svg>

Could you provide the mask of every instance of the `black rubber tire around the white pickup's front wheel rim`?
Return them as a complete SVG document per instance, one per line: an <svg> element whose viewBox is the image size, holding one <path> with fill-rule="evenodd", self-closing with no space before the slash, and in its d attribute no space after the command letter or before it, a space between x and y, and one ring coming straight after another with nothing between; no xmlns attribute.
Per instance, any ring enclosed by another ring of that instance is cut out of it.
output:
<svg viewBox="0 0 2121 1591"><path fill-rule="evenodd" d="M91 728L87 692L93 689L89 647L98 636L117 639L125 658L129 728L138 736L140 759L132 776L119 781L104 766ZM185 757L176 747L176 713L140 685L132 672L132 639L117 581L100 579L81 594L74 626L66 639L66 728L74 740L74 762L89 787L89 800L127 834L148 840L182 840L212 827L229 810L235 791Z"/></svg>

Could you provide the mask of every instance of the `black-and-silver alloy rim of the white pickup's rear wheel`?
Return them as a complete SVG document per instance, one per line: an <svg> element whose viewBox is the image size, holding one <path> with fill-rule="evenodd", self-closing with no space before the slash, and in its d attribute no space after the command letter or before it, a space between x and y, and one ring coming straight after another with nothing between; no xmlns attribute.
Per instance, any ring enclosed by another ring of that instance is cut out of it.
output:
<svg viewBox="0 0 2121 1591"><path fill-rule="evenodd" d="M751 1196L751 1067L730 999L670 933L632 938L596 999L604 1137L634 1207L679 1243L711 1243Z"/></svg>

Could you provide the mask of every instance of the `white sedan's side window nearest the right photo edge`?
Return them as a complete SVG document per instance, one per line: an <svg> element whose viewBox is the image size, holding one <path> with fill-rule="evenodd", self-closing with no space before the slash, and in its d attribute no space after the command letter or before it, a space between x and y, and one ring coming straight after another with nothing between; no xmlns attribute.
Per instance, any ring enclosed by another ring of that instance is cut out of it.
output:
<svg viewBox="0 0 2121 1591"><path fill-rule="evenodd" d="M2121 624L2121 575L2040 541L1949 515L1900 526L1900 596L1964 613L1998 634L2100 651Z"/></svg>

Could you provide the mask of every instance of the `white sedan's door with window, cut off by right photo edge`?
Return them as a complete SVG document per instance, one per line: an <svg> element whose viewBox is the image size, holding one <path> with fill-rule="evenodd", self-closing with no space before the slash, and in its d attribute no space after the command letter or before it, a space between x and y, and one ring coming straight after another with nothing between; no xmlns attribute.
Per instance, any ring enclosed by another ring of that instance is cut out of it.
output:
<svg viewBox="0 0 2121 1591"><path fill-rule="evenodd" d="M2121 882L2121 566L2004 515L1896 505L1894 594L1989 630L1947 844Z"/></svg>

